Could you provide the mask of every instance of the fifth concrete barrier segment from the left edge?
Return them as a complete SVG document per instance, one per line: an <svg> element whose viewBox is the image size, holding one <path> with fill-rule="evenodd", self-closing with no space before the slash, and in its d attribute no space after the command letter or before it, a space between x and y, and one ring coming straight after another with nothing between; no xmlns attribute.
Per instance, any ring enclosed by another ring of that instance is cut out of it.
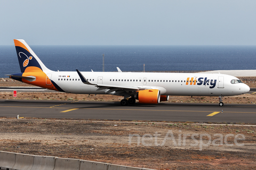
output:
<svg viewBox="0 0 256 170"><path fill-rule="evenodd" d="M89 160L81 160L80 170L108 170L107 163L93 162Z"/></svg>

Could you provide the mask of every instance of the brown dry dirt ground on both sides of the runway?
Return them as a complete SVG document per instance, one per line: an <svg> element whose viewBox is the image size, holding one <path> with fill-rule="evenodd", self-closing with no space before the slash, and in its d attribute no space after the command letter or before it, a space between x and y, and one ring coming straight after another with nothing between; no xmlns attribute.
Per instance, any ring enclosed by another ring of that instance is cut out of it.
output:
<svg viewBox="0 0 256 170"><path fill-rule="evenodd" d="M243 81L248 81L246 83L251 88L256 87L253 78ZM0 86L25 84L0 81ZM256 103L255 97L254 94L226 97L224 102ZM12 92L1 92L0 98L12 99ZM18 92L18 99L117 101L122 98ZM170 96L167 102L218 103L218 98ZM2 117L0 150L153 169L255 169L255 128L255 125L243 123L114 122L28 117L17 120Z"/></svg>

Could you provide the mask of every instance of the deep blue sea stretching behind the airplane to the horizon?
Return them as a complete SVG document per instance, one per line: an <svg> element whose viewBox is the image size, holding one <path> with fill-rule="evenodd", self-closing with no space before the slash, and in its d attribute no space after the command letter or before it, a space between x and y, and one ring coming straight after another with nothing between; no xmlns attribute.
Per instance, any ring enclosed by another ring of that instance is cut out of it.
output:
<svg viewBox="0 0 256 170"><path fill-rule="evenodd" d="M256 70L256 46L30 46L53 71ZM13 46L0 46L0 78L19 73Z"/></svg>

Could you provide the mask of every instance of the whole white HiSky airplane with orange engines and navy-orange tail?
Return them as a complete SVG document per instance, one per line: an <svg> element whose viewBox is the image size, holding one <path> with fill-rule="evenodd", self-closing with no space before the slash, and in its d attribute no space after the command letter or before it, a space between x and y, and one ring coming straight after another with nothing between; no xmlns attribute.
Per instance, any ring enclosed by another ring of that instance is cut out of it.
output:
<svg viewBox="0 0 256 170"><path fill-rule="evenodd" d="M14 80L46 89L73 94L109 94L123 96L122 106L139 101L158 104L169 96L242 95L250 91L241 80L226 74L149 73L149 72L81 72L52 71L42 63L25 40L14 39L20 73L8 74Z"/></svg>

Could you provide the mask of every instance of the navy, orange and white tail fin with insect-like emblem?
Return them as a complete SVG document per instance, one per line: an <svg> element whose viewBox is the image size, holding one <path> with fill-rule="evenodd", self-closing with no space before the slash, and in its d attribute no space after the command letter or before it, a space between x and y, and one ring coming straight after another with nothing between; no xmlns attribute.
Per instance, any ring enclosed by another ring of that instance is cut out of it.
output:
<svg viewBox="0 0 256 170"><path fill-rule="evenodd" d="M20 71L33 72L33 70L51 71L42 63L33 50L23 39L14 39L14 44L20 64Z"/></svg>

